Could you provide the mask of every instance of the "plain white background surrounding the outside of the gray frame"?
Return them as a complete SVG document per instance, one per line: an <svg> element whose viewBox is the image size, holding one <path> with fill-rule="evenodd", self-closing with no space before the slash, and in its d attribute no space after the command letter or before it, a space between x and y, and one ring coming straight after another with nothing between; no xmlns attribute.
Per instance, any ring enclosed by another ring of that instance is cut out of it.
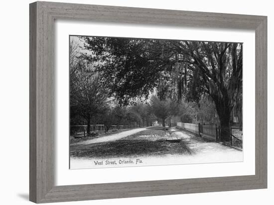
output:
<svg viewBox="0 0 274 205"><path fill-rule="evenodd" d="M52 0L54 1L54 0ZM268 168L269 188L219 193L113 199L86 202L70 202L71 205L139 205L139 204L191 204L191 205L256 205L273 204L274 195L274 55L273 29L274 13L270 0L62 0L63 2L120 5L147 8L178 9L208 12L239 13L268 16ZM0 2L0 203L4 205L23 205L28 202L28 4L30 0L10 0ZM65 203L61 203L65 204Z"/></svg>

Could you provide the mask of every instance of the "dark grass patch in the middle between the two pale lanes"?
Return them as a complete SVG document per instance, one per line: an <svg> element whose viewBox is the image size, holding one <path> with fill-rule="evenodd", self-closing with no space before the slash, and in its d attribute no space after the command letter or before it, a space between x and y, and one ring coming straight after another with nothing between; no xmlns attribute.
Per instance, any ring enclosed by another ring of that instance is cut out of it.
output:
<svg viewBox="0 0 274 205"><path fill-rule="evenodd" d="M150 141L139 138L140 135L164 135L163 130L144 130L120 140L93 143L72 144L70 156L82 158L139 157L161 155L189 155L183 141L167 142L164 139Z"/></svg>

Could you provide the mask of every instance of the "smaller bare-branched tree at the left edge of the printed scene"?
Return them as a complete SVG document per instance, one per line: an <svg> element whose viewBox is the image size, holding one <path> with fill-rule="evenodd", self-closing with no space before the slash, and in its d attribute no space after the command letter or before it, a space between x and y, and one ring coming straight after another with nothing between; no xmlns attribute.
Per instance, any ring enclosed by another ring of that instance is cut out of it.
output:
<svg viewBox="0 0 274 205"><path fill-rule="evenodd" d="M89 134L92 116L103 112L108 104L109 89L101 83L100 73L85 60L79 60L71 69L71 114L78 113L86 119Z"/></svg>

